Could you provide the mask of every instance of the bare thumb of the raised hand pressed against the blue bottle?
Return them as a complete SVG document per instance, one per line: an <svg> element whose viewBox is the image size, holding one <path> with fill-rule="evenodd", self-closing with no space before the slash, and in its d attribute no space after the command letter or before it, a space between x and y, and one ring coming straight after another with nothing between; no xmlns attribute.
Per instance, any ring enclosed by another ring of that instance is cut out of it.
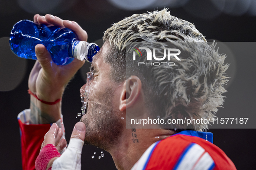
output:
<svg viewBox="0 0 256 170"><path fill-rule="evenodd" d="M37 44L35 47L36 58L39 61L43 69L48 70L51 67L52 57L51 54L47 51L43 44Z"/></svg>

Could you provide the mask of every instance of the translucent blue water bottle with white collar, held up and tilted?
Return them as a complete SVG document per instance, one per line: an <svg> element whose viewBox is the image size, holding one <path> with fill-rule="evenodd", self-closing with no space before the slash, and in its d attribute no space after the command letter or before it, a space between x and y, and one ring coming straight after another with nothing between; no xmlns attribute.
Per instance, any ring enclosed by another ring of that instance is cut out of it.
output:
<svg viewBox="0 0 256 170"><path fill-rule="evenodd" d="M94 43L78 41L75 32L69 28L35 24L21 20L13 25L9 41L11 50L18 57L37 60L36 44L43 44L58 65L67 65L74 58L92 62L100 47Z"/></svg>

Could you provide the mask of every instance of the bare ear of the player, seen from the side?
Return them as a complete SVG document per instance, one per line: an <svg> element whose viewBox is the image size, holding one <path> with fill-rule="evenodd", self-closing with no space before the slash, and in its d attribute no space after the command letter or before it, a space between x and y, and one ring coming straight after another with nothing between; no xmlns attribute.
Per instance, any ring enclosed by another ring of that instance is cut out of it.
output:
<svg viewBox="0 0 256 170"><path fill-rule="evenodd" d="M141 92L141 81L137 76L130 76L123 83L123 90L121 92L121 102L119 110L123 111L131 107Z"/></svg>

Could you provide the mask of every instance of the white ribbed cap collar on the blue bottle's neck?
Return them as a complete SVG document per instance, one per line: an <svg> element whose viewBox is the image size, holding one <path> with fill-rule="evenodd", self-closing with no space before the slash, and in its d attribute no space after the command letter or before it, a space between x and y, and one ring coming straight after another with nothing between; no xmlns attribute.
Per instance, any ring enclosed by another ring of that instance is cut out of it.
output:
<svg viewBox="0 0 256 170"><path fill-rule="evenodd" d="M75 41L72 44L73 57L82 61L87 56L87 53L88 53L88 50L87 50L86 41Z"/></svg>

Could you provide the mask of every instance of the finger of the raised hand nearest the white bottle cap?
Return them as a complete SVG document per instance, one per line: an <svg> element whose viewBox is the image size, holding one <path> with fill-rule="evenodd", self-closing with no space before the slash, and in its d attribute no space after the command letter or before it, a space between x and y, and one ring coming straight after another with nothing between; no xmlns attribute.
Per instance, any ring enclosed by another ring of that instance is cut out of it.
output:
<svg viewBox="0 0 256 170"><path fill-rule="evenodd" d="M69 28L73 31L75 31L76 35L78 36L78 39L80 41L87 41L88 35L87 32L83 30L83 28L81 28L80 25L78 25L77 22L75 21L69 21L69 20L64 20L63 21L63 25L66 28Z"/></svg>

